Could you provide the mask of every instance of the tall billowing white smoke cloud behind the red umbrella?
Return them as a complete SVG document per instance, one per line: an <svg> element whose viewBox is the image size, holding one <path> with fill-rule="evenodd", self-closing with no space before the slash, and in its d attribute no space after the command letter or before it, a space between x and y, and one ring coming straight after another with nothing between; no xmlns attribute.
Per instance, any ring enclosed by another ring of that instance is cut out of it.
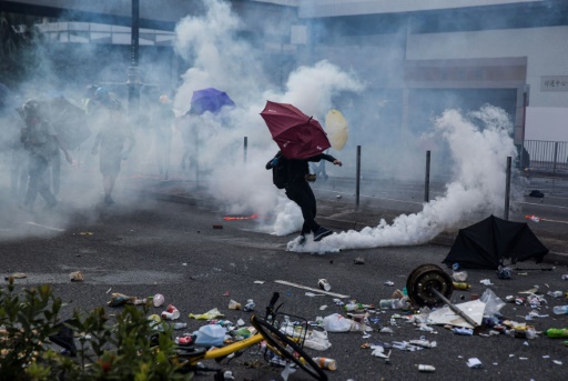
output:
<svg viewBox="0 0 568 381"><path fill-rule="evenodd" d="M292 103L306 114L323 118L332 109L335 94L361 91L363 83L353 73L321 61L300 67L281 91L263 71L262 47L235 37L240 20L230 4L207 1L207 7L204 17L187 17L176 28L176 50L191 60L192 67L183 76L174 106L184 113L193 91L213 87L225 91L236 108L189 118L194 136L199 134L196 160L207 171L203 186L227 212L275 215L277 234L295 231L302 224L300 209L273 186L272 173L264 168L278 148L260 113L271 100Z"/></svg>

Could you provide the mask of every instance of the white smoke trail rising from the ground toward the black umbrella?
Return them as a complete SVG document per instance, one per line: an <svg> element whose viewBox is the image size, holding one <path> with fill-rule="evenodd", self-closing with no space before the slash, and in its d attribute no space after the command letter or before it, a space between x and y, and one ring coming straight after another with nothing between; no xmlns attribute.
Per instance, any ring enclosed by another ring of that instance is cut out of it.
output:
<svg viewBox="0 0 568 381"><path fill-rule="evenodd" d="M333 252L419 244L477 213L503 213L506 158L516 157L511 128L507 113L496 107L485 106L467 116L445 111L434 121L434 129L449 144L455 180L443 197L425 203L418 213L398 215L392 224L381 220L376 227L332 234L321 242L310 240L304 247L294 240L288 250Z"/></svg>

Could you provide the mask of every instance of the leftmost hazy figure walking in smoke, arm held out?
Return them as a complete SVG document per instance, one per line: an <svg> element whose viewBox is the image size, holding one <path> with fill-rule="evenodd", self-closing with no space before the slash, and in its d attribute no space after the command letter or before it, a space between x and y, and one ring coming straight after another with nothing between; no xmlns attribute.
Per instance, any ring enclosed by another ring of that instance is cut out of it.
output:
<svg viewBox="0 0 568 381"><path fill-rule="evenodd" d="M23 208L31 211L39 192L51 209L58 204L58 201L45 182L45 171L57 157L58 150L63 151L70 163L71 156L61 144L51 123L42 117L41 106L36 99L23 103L22 116L26 126L21 129L20 141L29 153L29 182Z"/></svg>

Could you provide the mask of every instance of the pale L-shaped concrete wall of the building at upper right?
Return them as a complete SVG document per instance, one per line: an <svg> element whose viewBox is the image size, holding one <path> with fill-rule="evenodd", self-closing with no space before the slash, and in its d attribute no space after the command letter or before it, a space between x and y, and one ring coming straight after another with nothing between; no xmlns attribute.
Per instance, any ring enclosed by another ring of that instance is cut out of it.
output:
<svg viewBox="0 0 568 381"><path fill-rule="evenodd" d="M568 27L410 34L406 57L408 60L526 57L529 107L524 137L516 133L516 140L568 141L568 119L564 118L568 116L568 84L555 90L545 86L547 80L566 80L568 76L567 38ZM518 110L523 112L523 104ZM521 122L519 112L516 126Z"/></svg>

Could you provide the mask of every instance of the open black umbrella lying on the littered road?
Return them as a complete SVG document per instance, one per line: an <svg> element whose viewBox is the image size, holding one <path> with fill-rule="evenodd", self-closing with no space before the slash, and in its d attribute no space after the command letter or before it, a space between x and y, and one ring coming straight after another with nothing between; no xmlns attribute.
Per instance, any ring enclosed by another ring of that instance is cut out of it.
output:
<svg viewBox="0 0 568 381"><path fill-rule="evenodd" d="M526 222L513 222L490 215L470 227L460 229L443 263L459 263L469 269L494 269L504 264L536 260L548 253Z"/></svg>

